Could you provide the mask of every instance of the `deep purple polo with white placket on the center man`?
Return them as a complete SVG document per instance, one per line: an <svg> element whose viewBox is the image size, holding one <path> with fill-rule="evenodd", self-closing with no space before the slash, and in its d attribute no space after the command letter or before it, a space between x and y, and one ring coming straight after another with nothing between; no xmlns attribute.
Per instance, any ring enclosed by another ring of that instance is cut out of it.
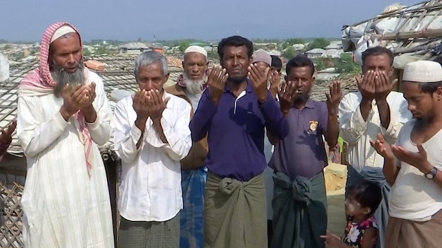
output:
<svg viewBox="0 0 442 248"><path fill-rule="evenodd" d="M221 178L247 182L262 173L265 128L276 137L289 133L289 124L271 93L264 104L258 102L252 83L237 98L229 88L224 89L218 106L204 90L200 104L190 124L192 140L207 134L209 153L206 166Z"/></svg>

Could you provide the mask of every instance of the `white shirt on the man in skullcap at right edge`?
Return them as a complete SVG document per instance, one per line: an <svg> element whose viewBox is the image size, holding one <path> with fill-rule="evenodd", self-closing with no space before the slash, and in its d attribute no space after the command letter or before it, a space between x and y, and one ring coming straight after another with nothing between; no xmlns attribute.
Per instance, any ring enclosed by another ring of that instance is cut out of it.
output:
<svg viewBox="0 0 442 248"><path fill-rule="evenodd" d="M416 123L412 120L405 124L399 134L396 144L408 151L418 152L416 144L412 143L411 133ZM442 170L442 129L430 140L423 143L427 152L427 160ZM428 180L416 167L400 163L396 181L390 191L389 207L390 216L412 221L430 220L434 213L442 209L442 189L433 180Z"/></svg>

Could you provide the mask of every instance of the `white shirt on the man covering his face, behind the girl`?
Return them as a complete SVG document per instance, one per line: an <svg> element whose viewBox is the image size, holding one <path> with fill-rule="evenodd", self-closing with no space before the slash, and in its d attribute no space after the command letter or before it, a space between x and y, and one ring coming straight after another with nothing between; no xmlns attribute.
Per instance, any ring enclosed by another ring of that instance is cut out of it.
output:
<svg viewBox="0 0 442 248"><path fill-rule="evenodd" d="M412 119L403 93L392 91L387 96L390 106L390 125L385 129L381 124L376 100L372 102L367 122L362 117L360 92L348 93L339 104L339 135L348 143L347 161L356 171L365 166L382 168L384 159L370 145L370 140L377 140L382 133L390 144L396 142L399 131L405 122Z"/></svg>

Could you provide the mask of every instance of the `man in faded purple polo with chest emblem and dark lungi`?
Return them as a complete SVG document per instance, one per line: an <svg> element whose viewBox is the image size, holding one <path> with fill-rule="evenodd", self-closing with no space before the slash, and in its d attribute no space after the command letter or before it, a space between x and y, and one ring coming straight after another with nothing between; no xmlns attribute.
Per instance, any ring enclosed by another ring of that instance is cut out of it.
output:
<svg viewBox="0 0 442 248"><path fill-rule="evenodd" d="M305 56L287 63L280 89L281 111L290 131L284 139L271 138L275 151L269 162L273 173L273 238L271 247L325 247L320 238L327 231L327 195L323 169L327 166L325 141L338 142L340 84L334 82L327 102L309 98L314 65Z"/></svg>

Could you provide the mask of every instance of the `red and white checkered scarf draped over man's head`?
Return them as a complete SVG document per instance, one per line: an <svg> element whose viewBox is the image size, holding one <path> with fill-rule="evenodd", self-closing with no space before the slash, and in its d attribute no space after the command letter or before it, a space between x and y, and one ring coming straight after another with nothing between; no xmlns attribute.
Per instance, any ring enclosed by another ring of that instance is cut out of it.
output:
<svg viewBox="0 0 442 248"><path fill-rule="evenodd" d="M77 28L67 22L57 22L49 26L44 32L43 39L40 45L40 66L39 68L32 70L26 77L20 82L19 86L19 97L21 96L37 96L37 95L48 95L53 93L53 88L55 82L50 76L49 69L49 46L50 39L54 35L55 31L61 26L70 26L77 32ZM80 45L83 46L83 42L80 37ZM84 68L84 73L86 75L86 80L88 80L88 69ZM88 175L92 174L93 170L93 151L92 151L92 138L90 137L90 132L88 126L86 125L86 120L84 119L84 114L82 111L78 111L74 115L77 121L77 129L79 131L79 139L82 144L84 144L84 152L86 156L86 166L88 169Z"/></svg>

